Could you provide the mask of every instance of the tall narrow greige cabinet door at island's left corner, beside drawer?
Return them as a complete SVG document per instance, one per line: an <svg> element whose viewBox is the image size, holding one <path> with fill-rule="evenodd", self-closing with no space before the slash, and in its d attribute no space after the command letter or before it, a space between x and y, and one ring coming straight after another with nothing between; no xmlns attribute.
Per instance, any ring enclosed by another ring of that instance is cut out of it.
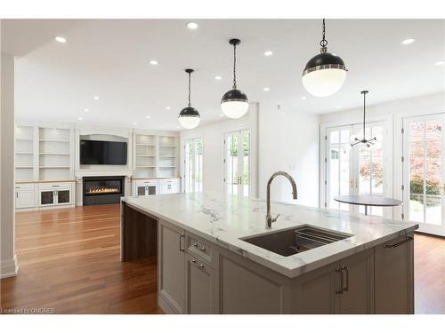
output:
<svg viewBox="0 0 445 333"><path fill-rule="evenodd" d="M183 230L163 220L159 221L158 288L159 295L176 313L184 313L184 252Z"/></svg>

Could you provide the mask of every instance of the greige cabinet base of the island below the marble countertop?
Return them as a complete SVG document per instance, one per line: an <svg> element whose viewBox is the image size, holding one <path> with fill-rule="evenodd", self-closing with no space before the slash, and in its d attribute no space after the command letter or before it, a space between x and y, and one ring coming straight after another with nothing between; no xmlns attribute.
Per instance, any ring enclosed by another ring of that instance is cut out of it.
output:
<svg viewBox="0 0 445 333"><path fill-rule="evenodd" d="M158 297L166 313L414 311L407 236L294 279L163 220L158 237Z"/></svg>

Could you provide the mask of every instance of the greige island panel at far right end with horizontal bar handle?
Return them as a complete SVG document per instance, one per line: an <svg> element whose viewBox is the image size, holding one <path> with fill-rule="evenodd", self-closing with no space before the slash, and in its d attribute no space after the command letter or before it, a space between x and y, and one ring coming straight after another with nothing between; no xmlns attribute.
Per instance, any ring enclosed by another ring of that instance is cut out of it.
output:
<svg viewBox="0 0 445 333"><path fill-rule="evenodd" d="M405 236L387 242L395 244ZM393 249L376 246L376 313L414 313L414 242Z"/></svg>

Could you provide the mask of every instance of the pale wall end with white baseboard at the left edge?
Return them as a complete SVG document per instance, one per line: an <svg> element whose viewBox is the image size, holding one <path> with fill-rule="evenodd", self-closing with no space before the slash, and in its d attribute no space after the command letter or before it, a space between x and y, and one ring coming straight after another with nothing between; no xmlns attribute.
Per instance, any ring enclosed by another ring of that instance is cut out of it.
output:
<svg viewBox="0 0 445 333"><path fill-rule="evenodd" d="M17 275L14 220L14 57L1 54L0 278Z"/></svg>

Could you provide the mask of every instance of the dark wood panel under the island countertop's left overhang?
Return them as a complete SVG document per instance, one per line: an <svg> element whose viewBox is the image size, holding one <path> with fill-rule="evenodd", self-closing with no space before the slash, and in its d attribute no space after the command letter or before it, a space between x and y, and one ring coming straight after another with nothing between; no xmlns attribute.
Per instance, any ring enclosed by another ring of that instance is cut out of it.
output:
<svg viewBox="0 0 445 333"><path fill-rule="evenodd" d="M121 204L121 260L158 255L158 219Z"/></svg>

